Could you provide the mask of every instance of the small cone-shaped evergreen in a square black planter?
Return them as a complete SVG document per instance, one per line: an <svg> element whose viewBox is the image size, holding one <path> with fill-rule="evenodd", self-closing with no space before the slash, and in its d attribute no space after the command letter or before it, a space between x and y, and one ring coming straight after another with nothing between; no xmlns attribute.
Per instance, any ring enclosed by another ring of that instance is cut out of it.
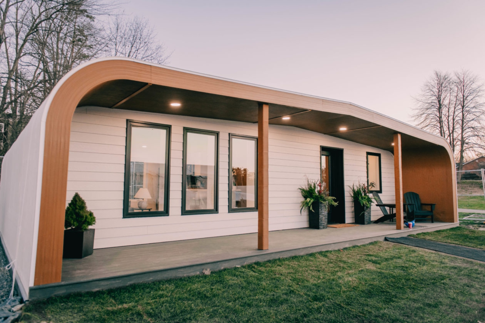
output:
<svg viewBox="0 0 485 323"><path fill-rule="evenodd" d="M94 229L93 212L86 208L86 202L76 193L65 209L63 258L84 258L93 254Z"/></svg>

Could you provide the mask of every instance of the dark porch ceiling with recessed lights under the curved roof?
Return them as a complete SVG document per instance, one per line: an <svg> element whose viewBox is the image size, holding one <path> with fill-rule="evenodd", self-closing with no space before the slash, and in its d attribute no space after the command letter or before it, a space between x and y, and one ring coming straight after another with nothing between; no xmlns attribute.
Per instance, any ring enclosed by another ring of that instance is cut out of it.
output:
<svg viewBox="0 0 485 323"><path fill-rule="evenodd" d="M144 86L146 86L146 83L132 80L106 82L88 92L81 99L78 107L111 108ZM172 102L181 103L181 107L170 107ZM290 125L393 151L391 142L396 131L388 127L350 115L318 110L307 111L304 108L268 103L270 105L270 124ZM258 122L257 101L155 84L132 96L116 108L248 123ZM281 117L287 115L291 115L290 120L281 119ZM339 127L342 126L345 126L348 130L339 131ZM411 149L436 145L420 138L402 134L402 146L403 149Z"/></svg>

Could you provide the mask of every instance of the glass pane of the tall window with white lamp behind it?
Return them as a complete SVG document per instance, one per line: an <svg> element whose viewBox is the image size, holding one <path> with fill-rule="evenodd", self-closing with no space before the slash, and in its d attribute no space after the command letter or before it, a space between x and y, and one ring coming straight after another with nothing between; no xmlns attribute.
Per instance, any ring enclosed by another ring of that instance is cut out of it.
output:
<svg viewBox="0 0 485 323"><path fill-rule="evenodd" d="M131 127L128 212L164 211L166 129Z"/></svg>

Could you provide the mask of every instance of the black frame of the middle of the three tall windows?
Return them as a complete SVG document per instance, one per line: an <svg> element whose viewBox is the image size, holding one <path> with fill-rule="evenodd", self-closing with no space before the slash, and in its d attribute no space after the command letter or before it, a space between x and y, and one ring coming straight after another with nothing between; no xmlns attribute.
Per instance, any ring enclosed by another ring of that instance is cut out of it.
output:
<svg viewBox="0 0 485 323"><path fill-rule="evenodd" d="M187 134L188 133L213 135L215 136L215 170L214 170L214 208L210 210L186 210L186 190L187 190ZM182 215L198 215L198 214L217 214L219 213L219 131L183 128L183 154L182 154Z"/></svg>

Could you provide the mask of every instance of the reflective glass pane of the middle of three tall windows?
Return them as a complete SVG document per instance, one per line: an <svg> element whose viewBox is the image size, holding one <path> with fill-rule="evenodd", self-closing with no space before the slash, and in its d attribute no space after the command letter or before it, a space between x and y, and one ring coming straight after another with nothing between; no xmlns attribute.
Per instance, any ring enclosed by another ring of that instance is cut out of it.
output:
<svg viewBox="0 0 485 323"><path fill-rule="evenodd" d="M216 135L187 132L185 149L185 210L213 210Z"/></svg>

